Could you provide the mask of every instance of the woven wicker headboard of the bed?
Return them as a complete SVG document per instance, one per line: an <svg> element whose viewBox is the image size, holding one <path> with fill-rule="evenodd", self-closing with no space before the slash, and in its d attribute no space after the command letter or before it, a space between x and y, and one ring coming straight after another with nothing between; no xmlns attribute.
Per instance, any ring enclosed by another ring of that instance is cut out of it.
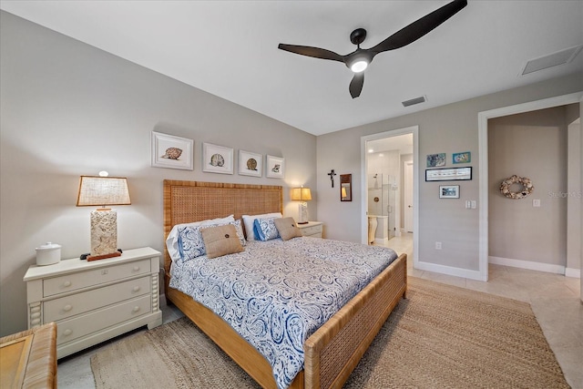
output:
<svg viewBox="0 0 583 389"><path fill-rule="evenodd" d="M281 186L164 180L164 241L176 224L269 212L283 212ZM167 276L170 262L165 249Z"/></svg>

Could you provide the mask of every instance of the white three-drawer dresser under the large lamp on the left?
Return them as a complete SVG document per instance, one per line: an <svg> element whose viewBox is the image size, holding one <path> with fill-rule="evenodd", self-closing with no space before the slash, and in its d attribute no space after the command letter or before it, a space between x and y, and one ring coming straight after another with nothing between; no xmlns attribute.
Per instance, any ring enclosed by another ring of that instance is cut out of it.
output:
<svg viewBox="0 0 583 389"><path fill-rule="evenodd" d="M56 322L56 357L62 358L119 334L162 323L159 251L124 251L116 258L26 271L28 328Z"/></svg>

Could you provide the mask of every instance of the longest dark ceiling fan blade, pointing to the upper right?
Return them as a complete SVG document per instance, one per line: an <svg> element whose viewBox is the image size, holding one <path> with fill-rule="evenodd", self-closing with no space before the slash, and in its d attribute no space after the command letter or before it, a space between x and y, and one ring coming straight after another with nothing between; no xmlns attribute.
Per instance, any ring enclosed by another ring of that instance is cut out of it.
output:
<svg viewBox="0 0 583 389"><path fill-rule="evenodd" d="M467 5L467 0L454 0L449 4L436 9L431 14L424 15L421 19L402 28L369 50L378 54L387 50L394 50L395 48L407 46L432 31L435 27L444 23L447 19L464 8L465 5Z"/></svg>

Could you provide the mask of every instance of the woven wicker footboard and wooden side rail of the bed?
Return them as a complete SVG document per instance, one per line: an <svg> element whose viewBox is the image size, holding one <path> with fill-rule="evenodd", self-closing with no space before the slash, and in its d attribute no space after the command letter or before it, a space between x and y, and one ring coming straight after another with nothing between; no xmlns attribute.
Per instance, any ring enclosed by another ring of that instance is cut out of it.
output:
<svg viewBox="0 0 583 389"><path fill-rule="evenodd" d="M308 338L304 344L304 370L293 381L292 389L342 387L394 306L404 297L406 271L406 255L402 254ZM187 294L172 288L167 291L169 301L255 381L264 388L277 387L267 360L227 322Z"/></svg>

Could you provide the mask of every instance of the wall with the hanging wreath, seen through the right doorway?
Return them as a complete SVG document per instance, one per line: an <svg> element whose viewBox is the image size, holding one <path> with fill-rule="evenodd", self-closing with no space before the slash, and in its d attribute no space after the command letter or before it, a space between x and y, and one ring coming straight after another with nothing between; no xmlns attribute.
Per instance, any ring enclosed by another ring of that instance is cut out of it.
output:
<svg viewBox="0 0 583 389"><path fill-rule="evenodd" d="M554 107L488 121L490 256L566 266L566 119L566 107ZM532 180L526 199L500 193L502 179L513 174Z"/></svg>

